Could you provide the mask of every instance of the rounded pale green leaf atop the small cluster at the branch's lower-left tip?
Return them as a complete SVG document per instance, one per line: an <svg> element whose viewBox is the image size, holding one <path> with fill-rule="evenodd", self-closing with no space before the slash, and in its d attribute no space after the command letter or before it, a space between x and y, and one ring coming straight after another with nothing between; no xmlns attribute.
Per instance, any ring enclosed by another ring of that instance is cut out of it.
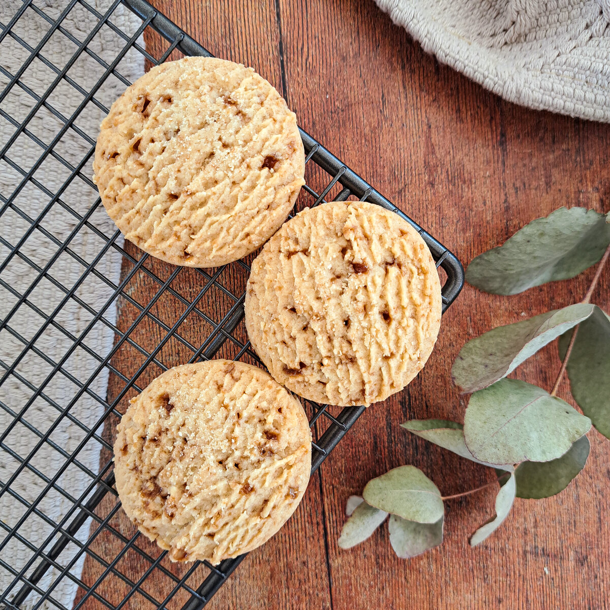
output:
<svg viewBox="0 0 610 610"><path fill-rule="evenodd" d="M418 523L436 523L445 512L439 488L415 466L368 481L362 495L371 506Z"/></svg>

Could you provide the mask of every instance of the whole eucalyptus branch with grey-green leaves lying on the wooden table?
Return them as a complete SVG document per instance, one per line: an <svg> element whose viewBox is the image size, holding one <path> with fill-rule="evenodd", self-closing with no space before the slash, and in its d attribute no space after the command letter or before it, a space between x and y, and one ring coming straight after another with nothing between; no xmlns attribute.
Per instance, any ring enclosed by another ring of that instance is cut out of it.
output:
<svg viewBox="0 0 610 610"><path fill-rule="evenodd" d="M589 457L586 435L591 426L610 439L610 315L590 303L610 259L609 244L610 212L560 208L472 260L467 282L497 295L513 295L574 277L595 264L597 268L578 303L498 326L462 347L451 377L462 393L470 394L463 424L437 419L401 424L462 458L486 466L505 465L496 472L512 464L511 472L475 489L443 496L418 468L392 468L367 483L362 498L356 498L356 509L346 508L349 517L339 547L361 543L389 514L390 545L398 557L414 557L441 544L445 500L464 498L500 483L492 519L470 537L470 545L475 547L503 523L515 498L549 498L578 476ZM540 264L532 266L533 259ZM555 341L564 356L550 394L508 377ZM568 361L570 392L582 413L556 397Z"/></svg>

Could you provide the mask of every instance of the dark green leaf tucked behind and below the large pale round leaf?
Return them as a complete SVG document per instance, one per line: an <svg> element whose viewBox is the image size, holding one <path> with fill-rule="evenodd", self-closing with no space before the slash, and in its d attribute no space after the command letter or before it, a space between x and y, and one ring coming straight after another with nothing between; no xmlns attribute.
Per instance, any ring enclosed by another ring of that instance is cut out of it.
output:
<svg viewBox="0 0 610 610"><path fill-rule="evenodd" d="M589 457L589 439L578 439L561 458L550 462L522 462L515 468L518 498L548 498L563 491L583 470Z"/></svg>

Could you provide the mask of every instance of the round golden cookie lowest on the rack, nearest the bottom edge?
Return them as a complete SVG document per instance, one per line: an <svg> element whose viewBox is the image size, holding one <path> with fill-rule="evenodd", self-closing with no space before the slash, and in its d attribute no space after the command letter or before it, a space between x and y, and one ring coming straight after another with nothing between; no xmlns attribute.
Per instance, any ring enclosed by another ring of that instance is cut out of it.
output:
<svg viewBox="0 0 610 610"><path fill-rule="evenodd" d="M173 561L218 564L263 544L309 481L301 403L260 368L172 368L131 400L114 445L127 516Z"/></svg>

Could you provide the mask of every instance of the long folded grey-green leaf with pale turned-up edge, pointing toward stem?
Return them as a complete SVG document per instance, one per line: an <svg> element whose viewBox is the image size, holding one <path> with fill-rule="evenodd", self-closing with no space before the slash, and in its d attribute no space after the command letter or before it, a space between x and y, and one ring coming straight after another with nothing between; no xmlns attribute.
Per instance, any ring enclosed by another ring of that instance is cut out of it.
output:
<svg viewBox="0 0 610 610"><path fill-rule="evenodd" d="M547 343L586 320L593 308L576 303L485 332L468 341L458 354L451 368L453 382L466 393L490 386Z"/></svg>

